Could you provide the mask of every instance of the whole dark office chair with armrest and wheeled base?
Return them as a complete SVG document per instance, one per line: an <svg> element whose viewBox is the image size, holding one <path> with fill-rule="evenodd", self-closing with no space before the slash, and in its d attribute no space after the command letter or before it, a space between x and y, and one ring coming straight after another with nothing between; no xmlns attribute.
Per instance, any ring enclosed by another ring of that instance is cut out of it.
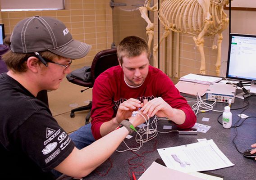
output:
<svg viewBox="0 0 256 180"><path fill-rule="evenodd" d="M118 58L116 55L116 48L102 50L96 54L96 56L93 58L93 61L91 63L91 81L83 81L79 78L75 78L73 80L69 80L69 82L72 82L73 84L76 84L76 85L81 85L83 87L87 87L87 89L92 88L95 79L102 72L116 65L119 65ZM81 90L81 92L83 91L84 90ZM88 124L89 119L91 117L91 107L92 107L92 101L90 101L90 103L86 106L74 108L71 110L70 117L75 117L75 112L77 111L90 110L85 118L85 124Z"/></svg>

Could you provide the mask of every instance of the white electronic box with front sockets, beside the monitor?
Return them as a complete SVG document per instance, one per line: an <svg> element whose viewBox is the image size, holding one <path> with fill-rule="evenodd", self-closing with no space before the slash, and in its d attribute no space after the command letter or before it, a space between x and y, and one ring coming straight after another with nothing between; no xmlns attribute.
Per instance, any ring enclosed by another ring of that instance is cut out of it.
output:
<svg viewBox="0 0 256 180"><path fill-rule="evenodd" d="M229 99L232 99L232 103L234 103L235 95L236 86L230 84L213 83L206 91L206 99L209 101L216 99L220 103L229 103Z"/></svg>

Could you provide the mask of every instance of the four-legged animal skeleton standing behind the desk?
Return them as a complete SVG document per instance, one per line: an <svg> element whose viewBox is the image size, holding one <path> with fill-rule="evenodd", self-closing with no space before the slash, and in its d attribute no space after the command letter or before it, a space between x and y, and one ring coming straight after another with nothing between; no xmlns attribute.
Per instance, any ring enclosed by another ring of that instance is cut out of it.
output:
<svg viewBox="0 0 256 180"><path fill-rule="evenodd" d="M155 26L147 17L146 12L147 10L156 11L157 8L157 4L150 8L150 3L151 0L146 0L144 6L140 7L142 18L148 23L146 31L149 46L151 46ZM222 31L229 24L229 18L227 18L227 14L223 11L224 4L229 4L229 0L164 0L158 11L159 20L165 26L160 43L169 35L170 31L193 35L193 40L201 55L200 73L205 74L204 36L215 36L212 48L218 48L215 71L217 76L219 76L221 43L223 39ZM158 45L155 45L153 48L154 66L157 65L157 51Z"/></svg>

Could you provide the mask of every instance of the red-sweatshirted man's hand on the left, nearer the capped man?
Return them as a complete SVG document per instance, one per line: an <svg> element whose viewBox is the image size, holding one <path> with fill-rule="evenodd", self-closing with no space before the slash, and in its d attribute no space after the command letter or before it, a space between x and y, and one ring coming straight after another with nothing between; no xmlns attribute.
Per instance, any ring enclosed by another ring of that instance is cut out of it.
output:
<svg viewBox="0 0 256 180"><path fill-rule="evenodd" d="M141 107L141 102L137 99L128 99L119 105L116 113L116 121L120 124L121 121L132 116L133 111L137 111Z"/></svg>

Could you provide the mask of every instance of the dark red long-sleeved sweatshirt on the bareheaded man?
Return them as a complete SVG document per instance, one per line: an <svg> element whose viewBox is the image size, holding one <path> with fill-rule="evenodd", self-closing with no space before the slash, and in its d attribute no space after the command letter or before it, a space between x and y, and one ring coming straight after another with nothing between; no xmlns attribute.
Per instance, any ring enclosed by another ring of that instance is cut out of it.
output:
<svg viewBox="0 0 256 180"><path fill-rule="evenodd" d="M96 78L92 89L91 130L94 138L100 139L101 124L116 116L119 104L134 98L144 99L161 97L172 108L183 110L186 120L179 128L190 128L197 121L195 113L183 98L170 78L159 69L149 66L149 72L143 84L129 87L123 78L123 69L118 65L111 67Z"/></svg>

